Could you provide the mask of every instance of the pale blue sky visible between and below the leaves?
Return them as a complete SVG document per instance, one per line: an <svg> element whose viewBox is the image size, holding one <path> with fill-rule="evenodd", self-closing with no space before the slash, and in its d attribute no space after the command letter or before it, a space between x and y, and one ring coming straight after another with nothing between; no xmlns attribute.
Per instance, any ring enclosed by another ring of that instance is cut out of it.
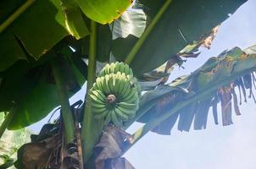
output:
<svg viewBox="0 0 256 169"><path fill-rule="evenodd" d="M185 69L175 68L170 80L190 74L209 57L216 57L225 49L234 46L244 49L256 44L255 8L256 0L249 0L238 8L220 26L211 49L202 49L198 58L188 59L183 65ZM80 94L75 95L70 102L80 97ZM187 133L175 127L170 136L148 133L127 151L125 158L136 169L256 169L256 104L248 101L241 106L241 112L242 116L233 116L234 124L227 127L214 125L209 116L205 130ZM38 131L48 118L30 128ZM133 133L141 126L135 123L128 132Z"/></svg>

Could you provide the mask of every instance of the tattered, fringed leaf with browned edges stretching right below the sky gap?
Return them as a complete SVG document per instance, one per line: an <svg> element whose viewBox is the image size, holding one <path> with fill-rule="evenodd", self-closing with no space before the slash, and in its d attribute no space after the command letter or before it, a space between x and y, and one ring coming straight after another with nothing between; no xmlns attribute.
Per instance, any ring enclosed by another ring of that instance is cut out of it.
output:
<svg viewBox="0 0 256 169"><path fill-rule="evenodd" d="M217 104L220 102L222 124L230 125L232 105L233 112L240 115L237 91L242 92L245 101L247 95L255 101L252 91L256 70L255 49L256 46L252 46L242 52L235 47L222 52L219 57L209 58L191 75L146 93L142 96L136 116L146 113L138 121L147 123L145 128L151 128L158 134L170 134L178 117L179 130L189 131L192 121L195 129L202 129L206 128L210 107L213 108L214 123L218 123ZM148 105L151 106L146 110Z"/></svg>

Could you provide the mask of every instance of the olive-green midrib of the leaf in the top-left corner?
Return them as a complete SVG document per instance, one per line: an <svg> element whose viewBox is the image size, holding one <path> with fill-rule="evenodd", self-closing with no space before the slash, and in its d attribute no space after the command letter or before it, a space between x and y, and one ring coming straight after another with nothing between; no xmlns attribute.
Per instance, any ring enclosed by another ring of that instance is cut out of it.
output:
<svg viewBox="0 0 256 169"><path fill-rule="evenodd" d="M21 5L15 12L14 14L11 14L8 19L6 19L3 24L0 25L0 34L5 30L8 25L11 25L15 19L19 17L20 14L24 13L27 8L31 6L36 2L36 0L27 0L23 5Z"/></svg>

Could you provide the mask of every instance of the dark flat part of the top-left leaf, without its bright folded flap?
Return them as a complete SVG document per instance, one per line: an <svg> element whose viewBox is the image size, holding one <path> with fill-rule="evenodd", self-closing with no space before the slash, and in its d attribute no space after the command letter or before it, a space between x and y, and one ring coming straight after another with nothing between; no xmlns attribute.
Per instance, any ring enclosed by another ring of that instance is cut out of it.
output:
<svg viewBox="0 0 256 169"><path fill-rule="evenodd" d="M26 1L22 1L25 3ZM12 8L12 12L19 8L17 1L2 1L0 6ZM8 19L10 12L4 13L3 23ZM31 4L19 18L8 26L0 35L4 41L0 52L0 71L5 70L19 59L27 59L19 41L36 60L51 49L64 36L69 35L65 27L64 13L58 0L39 0ZM17 41L19 39L19 41ZM35 45L36 44L36 45Z"/></svg>

